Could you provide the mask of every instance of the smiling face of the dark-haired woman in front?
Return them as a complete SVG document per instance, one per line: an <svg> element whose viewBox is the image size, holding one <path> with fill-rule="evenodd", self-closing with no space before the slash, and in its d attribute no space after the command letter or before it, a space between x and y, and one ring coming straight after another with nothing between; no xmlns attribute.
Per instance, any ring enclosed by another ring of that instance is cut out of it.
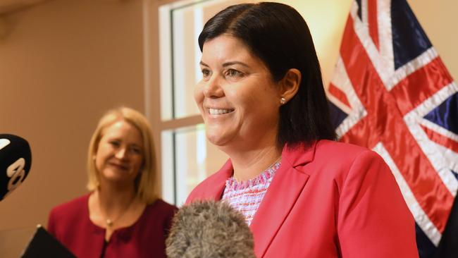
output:
<svg viewBox="0 0 458 258"><path fill-rule="evenodd" d="M221 35L204 43L200 67L194 99L210 142L247 149L275 144L281 96L261 59L240 39Z"/></svg>

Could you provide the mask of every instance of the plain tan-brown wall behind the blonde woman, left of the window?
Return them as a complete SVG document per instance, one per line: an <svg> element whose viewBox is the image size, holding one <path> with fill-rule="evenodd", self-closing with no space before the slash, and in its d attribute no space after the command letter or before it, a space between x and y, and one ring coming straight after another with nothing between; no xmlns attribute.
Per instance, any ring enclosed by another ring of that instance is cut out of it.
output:
<svg viewBox="0 0 458 258"><path fill-rule="evenodd" d="M0 231L46 224L51 207L85 192L104 111L144 111L141 1L48 1L4 20L0 131L30 141L32 169L0 202Z"/></svg>

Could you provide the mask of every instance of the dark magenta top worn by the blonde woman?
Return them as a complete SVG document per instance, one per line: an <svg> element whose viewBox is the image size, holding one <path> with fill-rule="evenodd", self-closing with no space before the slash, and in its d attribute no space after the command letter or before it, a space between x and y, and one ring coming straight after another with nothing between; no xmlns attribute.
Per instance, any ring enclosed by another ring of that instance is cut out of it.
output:
<svg viewBox="0 0 458 258"><path fill-rule="evenodd" d="M48 231L77 257L166 257L166 236L176 207L158 199L131 226L118 228L109 242L105 228L89 219L89 195L51 210Z"/></svg>

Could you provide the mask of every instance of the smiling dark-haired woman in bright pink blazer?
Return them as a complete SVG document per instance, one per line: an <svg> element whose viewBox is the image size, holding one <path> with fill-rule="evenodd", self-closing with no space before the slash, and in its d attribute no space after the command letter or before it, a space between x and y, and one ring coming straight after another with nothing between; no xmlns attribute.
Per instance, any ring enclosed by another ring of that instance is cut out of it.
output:
<svg viewBox="0 0 458 258"><path fill-rule="evenodd" d="M418 257L414 219L375 152L334 142L311 35L294 8L240 4L199 35L194 98L230 159L187 203L245 215L257 257Z"/></svg>

